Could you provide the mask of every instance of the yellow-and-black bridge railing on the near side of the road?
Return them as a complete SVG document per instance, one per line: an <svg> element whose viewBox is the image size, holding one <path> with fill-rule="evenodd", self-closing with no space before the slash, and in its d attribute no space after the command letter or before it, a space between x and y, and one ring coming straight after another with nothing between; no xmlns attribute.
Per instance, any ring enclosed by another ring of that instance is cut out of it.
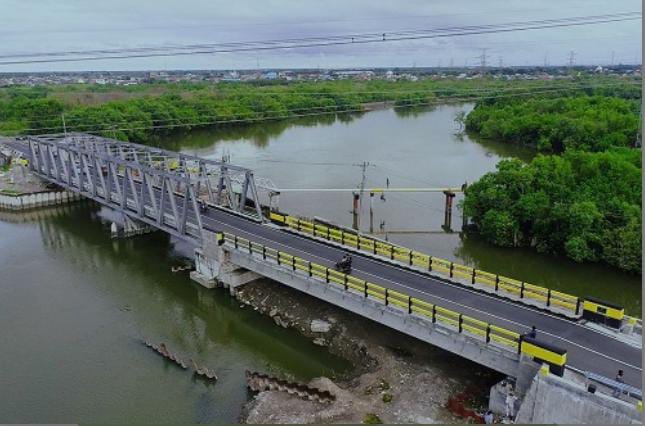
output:
<svg viewBox="0 0 645 426"><path fill-rule="evenodd" d="M490 324L231 233L220 233L218 238L229 249L247 253L258 260L273 263L323 285L331 285L337 289L361 295L366 299L383 304L384 307L396 309L404 315L421 318L432 324L440 324L485 344L492 344L517 354L549 362L552 371L564 368L566 363L566 352L563 353L561 350L536 342L532 342L531 345L526 344L523 336L513 330Z"/></svg>

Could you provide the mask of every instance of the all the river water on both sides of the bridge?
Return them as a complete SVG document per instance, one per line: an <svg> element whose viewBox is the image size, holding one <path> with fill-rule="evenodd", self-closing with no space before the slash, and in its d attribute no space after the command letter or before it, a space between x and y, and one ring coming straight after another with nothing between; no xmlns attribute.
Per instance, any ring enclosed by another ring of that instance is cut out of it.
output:
<svg viewBox="0 0 645 426"><path fill-rule="evenodd" d="M281 188L459 186L528 148L455 135L454 114L381 110L192 132L160 141L209 158L230 154ZM446 233L442 194L374 199L377 234L528 282L592 294L640 312L640 278L530 250L497 249ZM361 229L369 230L367 198ZM283 194L280 208L351 225L351 195ZM234 422L248 398L244 370L306 380L349 367L295 331L170 272L190 249L158 233L111 240L91 204L0 214L0 420L11 422ZM453 228L461 219L455 211ZM146 348L165 342L215 370L195 379Z"/></svg>

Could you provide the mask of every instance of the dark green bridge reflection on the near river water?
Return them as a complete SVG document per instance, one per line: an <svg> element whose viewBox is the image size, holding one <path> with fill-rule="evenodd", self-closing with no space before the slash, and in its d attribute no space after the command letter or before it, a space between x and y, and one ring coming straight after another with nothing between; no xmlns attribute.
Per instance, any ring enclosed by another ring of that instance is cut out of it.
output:
<svg viewBox="0 0 645 426"><path fill-rule="evenodd" d="M271 351L261 353L266 362L299 377L321 371L332 373L330 366L342 366L343 363L332 356L310 359L309 342L302 346L303 339L296 339L296 344L292 344L292 336L284 340L278 338L284 333L276 332L271 321L240 310L225 291L204 290L192 283L185 273L171 273L171 265L181 262L182 258L173 250L175 241L167 234L156 232L110 240L108 224L98 221L98 211L95 206L77 208L71 214L39 222L43 245L80 272L122 271L119 275L127 274L127 283L110 282L98 288L106 297L119 299L119 306L129 304L129 296L125 293L136 290L153 299L161 310L172 312L173 321L182 325L171 329L173 340L180 342L185 351L208 355L234 340L251 351L271 348ZM133 288L135 285L139 288ZM133 311L134 315L139 313L147 315Z"/></svg>

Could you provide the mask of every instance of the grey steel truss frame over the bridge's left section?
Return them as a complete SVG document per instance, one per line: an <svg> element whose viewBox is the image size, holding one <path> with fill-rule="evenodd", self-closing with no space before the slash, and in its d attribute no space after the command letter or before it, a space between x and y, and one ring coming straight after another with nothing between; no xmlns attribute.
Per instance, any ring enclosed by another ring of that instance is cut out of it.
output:
<svg viewBox="0 0 645 426"><path fill-rule="evenodd" d="M264 220L244 167L87 134L27 142L37 175L183 239L201 243L203 202Z"/></svg>

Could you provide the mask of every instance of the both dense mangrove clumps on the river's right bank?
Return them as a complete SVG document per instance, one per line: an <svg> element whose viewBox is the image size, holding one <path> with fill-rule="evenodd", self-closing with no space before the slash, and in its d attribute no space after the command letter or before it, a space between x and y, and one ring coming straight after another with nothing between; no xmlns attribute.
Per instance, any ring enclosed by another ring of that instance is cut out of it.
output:
<svg viewBox="0 0 645 426"><path fill-rule="evenodd" d="M488 242L641 273L640 99L558 96L478 104L481 136L535 146L469 186L464 212Z"/></svg>

